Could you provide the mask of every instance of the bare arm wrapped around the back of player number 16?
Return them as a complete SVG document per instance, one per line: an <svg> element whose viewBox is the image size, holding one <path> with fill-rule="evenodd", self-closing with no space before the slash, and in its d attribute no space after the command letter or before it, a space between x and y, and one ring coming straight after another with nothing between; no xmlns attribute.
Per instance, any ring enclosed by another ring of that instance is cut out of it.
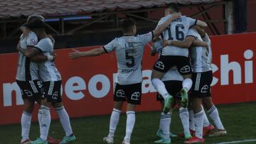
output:
<svg viewBox="0 0 256 144"><path fill-rule="evenodd" d="M189 48L193 44L193 41L196 40L193 36L187 36L185 40L164 40L163 45L166 47L167 45L173 45L179 48Z"/></svg>

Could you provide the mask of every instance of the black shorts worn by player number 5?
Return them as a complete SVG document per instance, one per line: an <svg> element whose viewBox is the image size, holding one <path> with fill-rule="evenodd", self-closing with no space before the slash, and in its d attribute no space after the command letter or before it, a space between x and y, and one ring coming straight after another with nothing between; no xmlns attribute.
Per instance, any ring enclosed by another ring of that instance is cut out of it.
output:
<svg viewBox="0 0 256 144"><path fill-rule="evenodd" d="M129 104L141 104L142 83L120 85L115 84L114 101L127 101Z"/></svg>

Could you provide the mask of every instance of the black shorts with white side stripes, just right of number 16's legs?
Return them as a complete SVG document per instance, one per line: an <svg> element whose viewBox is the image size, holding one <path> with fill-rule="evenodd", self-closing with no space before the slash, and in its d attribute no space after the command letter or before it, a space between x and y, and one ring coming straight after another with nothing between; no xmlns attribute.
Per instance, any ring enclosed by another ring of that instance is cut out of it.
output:
<svg viewBox="0 0 256 144"><path fill-rule="evenodd" d="M213 71L193 72L192 81L191 96L196 98L210 96L210 84L213 81Z"/></svg>

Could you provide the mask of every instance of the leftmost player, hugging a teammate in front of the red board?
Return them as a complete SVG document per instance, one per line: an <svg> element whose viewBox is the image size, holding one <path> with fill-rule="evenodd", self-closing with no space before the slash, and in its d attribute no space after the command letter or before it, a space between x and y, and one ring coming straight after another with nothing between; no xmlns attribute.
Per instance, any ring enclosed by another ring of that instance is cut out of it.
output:
<svg viewBox="0 0 256 144"><path fill-rule="evenodd" d="M17 45L17 49L26 49L28 46L34 46L38 43L38 37L33 31L30 31L26 26L21 27L23 34ZM38 63L47 60L53 60L54 55L40 54L28 58L21 52L18 52L18 68L16 74L16 82L21 89L21 94L24 102L23 113L21 115L21 144L31 143L29 131L31 126L31 115L35 105L35 101L41 103L41 88L43 84L39 80ZM34 62L36 61L36 62ZM48 137L52 143L58 142L53 138Z"/></svg>

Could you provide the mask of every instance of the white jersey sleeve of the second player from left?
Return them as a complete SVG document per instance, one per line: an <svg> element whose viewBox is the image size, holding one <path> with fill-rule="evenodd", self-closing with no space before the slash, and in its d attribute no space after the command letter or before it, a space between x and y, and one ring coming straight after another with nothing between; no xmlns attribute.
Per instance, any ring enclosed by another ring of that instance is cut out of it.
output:
<svg viewBox="0 0 256 144"><path fill-rule="evenodd" d="M43 38L34 48L38 48L41 52L53 52L53 45L50 42L51 40L49 38Z"/></svg>

